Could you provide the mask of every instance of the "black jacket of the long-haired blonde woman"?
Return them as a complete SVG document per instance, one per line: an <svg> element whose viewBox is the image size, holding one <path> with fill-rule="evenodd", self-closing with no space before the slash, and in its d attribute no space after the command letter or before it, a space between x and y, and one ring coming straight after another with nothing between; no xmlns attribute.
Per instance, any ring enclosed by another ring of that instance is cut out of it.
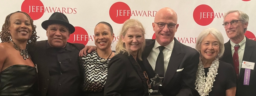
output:
<svg viewBox="0 0 256 96"><path fill-rule="evenodd" d="M119 53L111 58L104 96L143 96L143 83L133 65L139 66L132 55L128 56L126 53ZM143 75L142 70L139 74Z"/></svg>

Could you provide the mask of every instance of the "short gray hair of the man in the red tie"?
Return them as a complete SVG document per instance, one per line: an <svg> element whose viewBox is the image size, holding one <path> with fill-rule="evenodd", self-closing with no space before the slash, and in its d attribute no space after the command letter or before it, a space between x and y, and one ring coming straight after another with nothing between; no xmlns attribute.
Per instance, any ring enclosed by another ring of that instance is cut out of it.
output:
<svg viewBox="0 0 256 96"><path fill-rule="evenodd" d="M233 12L237 12L239 14L239 19L240 20L243 20L242 23L245 24L245 23L248 23L249 24L249 16L242 12L242 11L239 11L239 10L230 10L228 11L225 15L224 15L224 19L226 18L226 16L229 14L229 13L233 13ZM244 29L244 33L246 32L247 28Z"/></svg>

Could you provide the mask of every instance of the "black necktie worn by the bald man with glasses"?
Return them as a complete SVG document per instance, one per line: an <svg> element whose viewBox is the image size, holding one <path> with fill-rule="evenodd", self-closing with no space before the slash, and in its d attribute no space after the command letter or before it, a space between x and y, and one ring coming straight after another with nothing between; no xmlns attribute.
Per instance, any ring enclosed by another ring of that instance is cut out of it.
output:
<svg viewBox="0 0 256 96"><path fill-rule="evenodd" d="M156 59L156 68L155 68L155 72L160 76L160 77L164 77L164 46L159 46L159 54L158 57Z"/></svg>

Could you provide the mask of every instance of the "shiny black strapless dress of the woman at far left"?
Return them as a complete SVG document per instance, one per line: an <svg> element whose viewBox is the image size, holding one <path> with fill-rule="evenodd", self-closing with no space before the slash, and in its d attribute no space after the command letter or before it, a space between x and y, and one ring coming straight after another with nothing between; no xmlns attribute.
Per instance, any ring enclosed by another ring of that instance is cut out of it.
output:
<svg viewBox="0 0 256 96"><path fill-rule="evenodd" d="M1 96L34 96L33 88L37 72L35 67L27 65L13 65L0 73Z"/></svg>

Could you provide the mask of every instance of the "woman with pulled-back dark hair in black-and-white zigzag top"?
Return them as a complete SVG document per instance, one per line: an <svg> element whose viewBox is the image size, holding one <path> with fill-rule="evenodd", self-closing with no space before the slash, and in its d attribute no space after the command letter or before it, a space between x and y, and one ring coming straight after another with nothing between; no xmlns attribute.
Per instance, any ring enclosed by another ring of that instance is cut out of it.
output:
<svg viewBox="0 0 256 96"><path fill-rule="evenodd" d="M99 22L94 28L94 43L97 50L82 57L84 82L83 96L103 96L108 75L109 60L115 56L111 50L114 39L113 28L107 22Z"/></svg>

